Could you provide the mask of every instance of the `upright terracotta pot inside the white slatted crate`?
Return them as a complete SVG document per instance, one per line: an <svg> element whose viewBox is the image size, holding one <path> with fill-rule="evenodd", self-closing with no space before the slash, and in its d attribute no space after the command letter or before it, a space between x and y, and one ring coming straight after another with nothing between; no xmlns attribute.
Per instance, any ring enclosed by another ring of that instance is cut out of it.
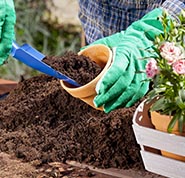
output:
<svg viewBox="0 0 185 178"><path fill-rule="evenodd" d="M151 112L151 121L152 121L152 124L155 126L155 129L162 132L167 132L168 124L171 121L171 117L167 115L161 115L160 113L154 111L154 112ZM175 135L185 136L185 133L180 133L178 131L178 123L175 124L172 130L172 133ZM164 150L161 150L161 154L169 158L185 161L185 156L176 155Z"/></svg>

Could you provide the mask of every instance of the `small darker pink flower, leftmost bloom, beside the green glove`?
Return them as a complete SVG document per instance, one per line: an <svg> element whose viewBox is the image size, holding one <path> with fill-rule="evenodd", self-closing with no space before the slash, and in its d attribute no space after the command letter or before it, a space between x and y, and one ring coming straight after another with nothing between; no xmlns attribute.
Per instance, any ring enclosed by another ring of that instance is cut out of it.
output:
<svg viewBox="0 0 185 178"><path fill-rule="evenodd" d="M153 78L158 72L157 61L151 58L146 64L146 75L148 78Z"/></svg>

